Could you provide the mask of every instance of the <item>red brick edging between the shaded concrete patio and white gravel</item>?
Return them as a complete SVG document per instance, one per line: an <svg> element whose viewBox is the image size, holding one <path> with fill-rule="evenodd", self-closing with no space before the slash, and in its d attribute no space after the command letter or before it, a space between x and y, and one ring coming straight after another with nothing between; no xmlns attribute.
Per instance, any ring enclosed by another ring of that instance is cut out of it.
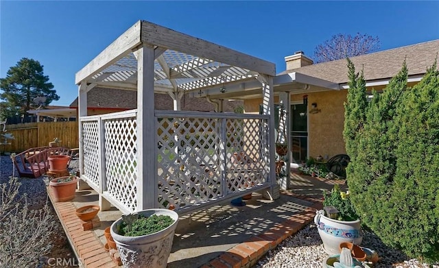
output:
<svg viewBox="0 0 439 268"><path fill-rule="evenodd" d="M254 235L235 247L229 249L224 254L214 258L209 263L202 265L201 268L248 268L252 267L270 249L274 249L288 236L295 234L302 229L316 215L316 210L322 209L322 199L304 197L287 191L281 192L283 195L290 195L296 198L312 202L313 205L298 214L290 217L283 223L278 223L263 234Z"/></svg>

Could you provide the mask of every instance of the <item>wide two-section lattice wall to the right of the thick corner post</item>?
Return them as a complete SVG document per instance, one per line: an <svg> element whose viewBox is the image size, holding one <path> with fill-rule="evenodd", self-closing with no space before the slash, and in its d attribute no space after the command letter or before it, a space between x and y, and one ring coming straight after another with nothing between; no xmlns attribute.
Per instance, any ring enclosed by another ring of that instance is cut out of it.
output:
<svg viewBox="0 0 439 268"><path fill-rule="evenodd" d="M187 208L267 182L266 127L263 119L158 120L158 202Z"/></svg>

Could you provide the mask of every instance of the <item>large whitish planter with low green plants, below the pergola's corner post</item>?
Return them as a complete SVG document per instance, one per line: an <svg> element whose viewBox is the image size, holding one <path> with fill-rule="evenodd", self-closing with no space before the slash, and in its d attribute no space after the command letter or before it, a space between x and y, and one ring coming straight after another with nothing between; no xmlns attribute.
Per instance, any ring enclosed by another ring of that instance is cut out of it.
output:
<svg viewBox="0 0 439 268"><path fill-rule="evenodd" d="M124 267L167 267L178 214L153 208L123 215L112 223L110 233Z"/></svg>

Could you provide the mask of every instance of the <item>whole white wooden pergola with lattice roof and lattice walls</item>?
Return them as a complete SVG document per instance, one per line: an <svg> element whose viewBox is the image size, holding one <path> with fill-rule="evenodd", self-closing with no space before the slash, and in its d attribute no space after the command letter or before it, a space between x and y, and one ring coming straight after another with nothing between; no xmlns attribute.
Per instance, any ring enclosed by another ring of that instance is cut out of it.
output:
<svg viewBox="0 0 439 268"><path fill-rule="evenodd" d="M138 21L76 73L82 180L103 210L123 212L186 213L252 191L275 195L274 75L271 62ZM224 88L254 83L263 114L222 112ZM137 90L137 109L87 116L95 87ZM180 111L189 92L216 112ZM154 110L154 93L169 94L174 110Z"/></svg>

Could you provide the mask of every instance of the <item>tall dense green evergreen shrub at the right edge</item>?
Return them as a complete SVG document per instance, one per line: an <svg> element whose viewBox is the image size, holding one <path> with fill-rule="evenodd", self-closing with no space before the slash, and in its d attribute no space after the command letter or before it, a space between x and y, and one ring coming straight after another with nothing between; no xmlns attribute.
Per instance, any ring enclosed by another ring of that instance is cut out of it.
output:
<svg viewBox="0 0 439 268"><path fill-rule="evenodd" d="M407 66L366 101L348 60L344 140L351 201L363 223L409 256L439 260L439 72L407 88Z"/></svg>

